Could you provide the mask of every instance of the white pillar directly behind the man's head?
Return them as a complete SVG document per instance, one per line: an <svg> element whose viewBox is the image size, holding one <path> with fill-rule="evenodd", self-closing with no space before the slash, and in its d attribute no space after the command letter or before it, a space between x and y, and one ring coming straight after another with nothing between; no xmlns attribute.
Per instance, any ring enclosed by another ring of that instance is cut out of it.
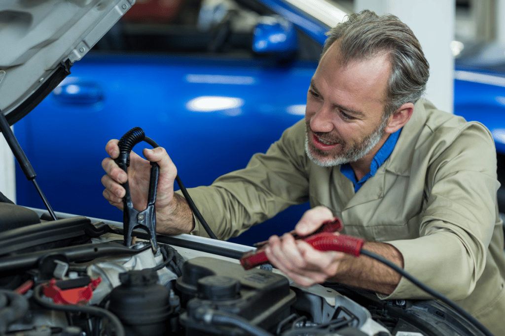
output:
<svg viewBox="0 0 505 336"><path fill-rule="evenodd" d="M500 0L504 1L504 0ZM453 0L354 0L354 11L368 9L396 15L421 42L430 63L426 98L437 108L453 112L454 38L456 5Z"/></svg>

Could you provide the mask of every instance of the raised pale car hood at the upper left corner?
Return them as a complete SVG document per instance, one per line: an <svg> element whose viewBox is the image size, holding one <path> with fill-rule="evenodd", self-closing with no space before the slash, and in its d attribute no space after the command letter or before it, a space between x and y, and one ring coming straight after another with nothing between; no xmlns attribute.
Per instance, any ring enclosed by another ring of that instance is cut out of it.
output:
<svg viewBox="0 0 505 336"><path fill-rule="evenodd" d="M70 74L72 64L135 0L2 0L0 110L14 124Z"/></svg>

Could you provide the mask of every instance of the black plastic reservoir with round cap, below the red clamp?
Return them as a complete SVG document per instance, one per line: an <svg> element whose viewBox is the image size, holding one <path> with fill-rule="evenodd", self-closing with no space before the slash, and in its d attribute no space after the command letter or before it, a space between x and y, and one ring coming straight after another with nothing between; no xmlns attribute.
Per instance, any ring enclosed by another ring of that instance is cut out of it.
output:
<svg viewBox="0 0 505 336"><path fill-rule="evenodd" d="M209 257L186 261L176 287L187 301L187 312L180 316L187 336L242 334L240 328L205 321L204 316L210 314L203 308L235 316L252 326L275 329L296 299L282 275L257 268L244 271L238 263Z"/></svg>

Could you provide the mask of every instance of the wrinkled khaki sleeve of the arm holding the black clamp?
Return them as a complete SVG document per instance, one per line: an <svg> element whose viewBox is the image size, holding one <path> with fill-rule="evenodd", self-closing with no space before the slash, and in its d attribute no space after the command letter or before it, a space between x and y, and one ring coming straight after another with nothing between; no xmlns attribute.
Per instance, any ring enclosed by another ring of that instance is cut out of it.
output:
<svg viewBox="0 0 505 336"><path fill-rule="evenodd" d="M188 189L198 210L220 239L238 236L250 226L308 197L305 123L284 131L266 154L255 154L246 168L219 177L211 186ZM194 235L207 236L195 218Z"/></svg>

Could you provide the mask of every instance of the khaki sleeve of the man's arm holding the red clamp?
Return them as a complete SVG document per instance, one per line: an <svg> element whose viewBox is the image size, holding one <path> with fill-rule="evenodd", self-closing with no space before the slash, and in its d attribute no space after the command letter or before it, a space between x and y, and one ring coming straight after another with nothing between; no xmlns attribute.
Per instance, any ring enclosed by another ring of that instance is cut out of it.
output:
<svg viewBox="0 0 505 336"><path fill-rule="evenodd" d="M388 243L401 252L408 273L461 300L472 293L484 271L496 223L494 142L484 126L469 123L450 146L435 148L432 158L420 237ZM431 298L405 278L393 293L381 297Z"/></svg>

